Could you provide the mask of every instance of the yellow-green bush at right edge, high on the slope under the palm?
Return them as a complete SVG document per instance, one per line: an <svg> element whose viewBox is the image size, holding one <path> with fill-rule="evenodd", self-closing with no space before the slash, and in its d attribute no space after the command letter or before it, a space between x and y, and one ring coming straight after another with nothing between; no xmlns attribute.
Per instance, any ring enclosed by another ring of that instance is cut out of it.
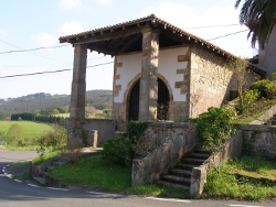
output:
<svg viewBox="0 0 276 207"><path fill-rule="evenodd" d="M259 98L274 98L276 95L276 85L269 79L261 79L251 85L251 90L258 90Z"/></svg>

